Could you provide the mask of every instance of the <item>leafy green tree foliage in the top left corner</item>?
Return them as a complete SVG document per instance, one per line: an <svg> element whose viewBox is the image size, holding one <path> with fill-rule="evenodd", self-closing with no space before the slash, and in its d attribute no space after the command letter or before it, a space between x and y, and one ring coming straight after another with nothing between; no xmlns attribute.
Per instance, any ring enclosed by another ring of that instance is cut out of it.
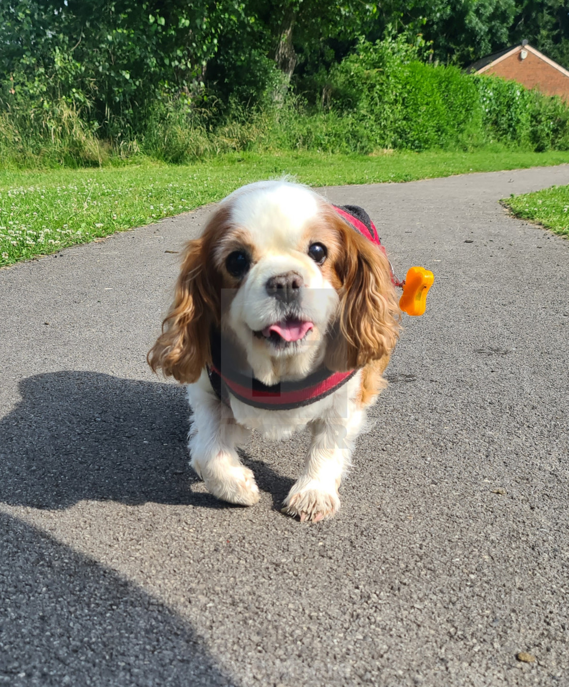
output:
<svg viewBox="0 0 569 687"><path fill-rule="evenodd" d="M8 94L66 98L102 124L135 120L165 93L191 100L238 0L3 0L0 79Z"/></svg>

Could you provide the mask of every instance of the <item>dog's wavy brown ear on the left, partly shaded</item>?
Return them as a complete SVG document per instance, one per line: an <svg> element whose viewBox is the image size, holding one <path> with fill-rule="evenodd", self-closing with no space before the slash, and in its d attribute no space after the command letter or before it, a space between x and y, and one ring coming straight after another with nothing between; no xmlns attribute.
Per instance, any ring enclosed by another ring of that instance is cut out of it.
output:
<svg viewBox="0 0 569 687"><path fill-rule="evenodd" d="M210 327L219 324L219 289L210 273L208 237L186 245L174 300L162 323L162 333L148 352L148 365L181 383L199 379L211 361Z"/></svg>

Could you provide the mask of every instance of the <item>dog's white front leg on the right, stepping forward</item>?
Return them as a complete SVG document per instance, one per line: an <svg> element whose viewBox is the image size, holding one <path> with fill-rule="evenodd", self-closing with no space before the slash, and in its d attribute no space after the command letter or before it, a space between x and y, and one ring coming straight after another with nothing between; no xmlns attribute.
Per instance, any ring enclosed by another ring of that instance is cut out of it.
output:
<svg viewBox="0 0 569 687"><path fill-rule="evenodd" d="M334 414L311 424L312 441L304 473L282 504L283 513L315 522L337 513L338 488L365 420L364 411L350 405L352 412L347 418Z"/></svg>

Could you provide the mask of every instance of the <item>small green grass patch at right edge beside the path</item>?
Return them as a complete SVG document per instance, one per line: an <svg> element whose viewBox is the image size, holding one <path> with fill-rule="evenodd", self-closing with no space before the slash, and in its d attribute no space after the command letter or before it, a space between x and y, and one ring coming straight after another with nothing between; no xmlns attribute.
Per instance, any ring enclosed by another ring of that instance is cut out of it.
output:
<svg viewBox="0 0 569 687"><path fill-rule="evenodd" d="M502 201L517 217L569 236L569 186L552 186Z"/></svg>

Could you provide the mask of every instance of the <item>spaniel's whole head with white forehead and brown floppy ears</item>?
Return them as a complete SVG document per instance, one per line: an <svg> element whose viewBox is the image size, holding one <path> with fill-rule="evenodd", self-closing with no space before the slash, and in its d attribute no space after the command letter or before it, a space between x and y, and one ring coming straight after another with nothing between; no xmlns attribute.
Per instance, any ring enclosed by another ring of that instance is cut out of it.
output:
<svg viewBox="0 0 569 687"><path fill-rule="evenodd" d="M150 366L197 381L210 362L212 326L266 384L302 379L322 363L361 368L397 339L390 264L309 188L244 186L186 246Z"/></svg>

